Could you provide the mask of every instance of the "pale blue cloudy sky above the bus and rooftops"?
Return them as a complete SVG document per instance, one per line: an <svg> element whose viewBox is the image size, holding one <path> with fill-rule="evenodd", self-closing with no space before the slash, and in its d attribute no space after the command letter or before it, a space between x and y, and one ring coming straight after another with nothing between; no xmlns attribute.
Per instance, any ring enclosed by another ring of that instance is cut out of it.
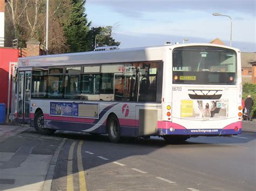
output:
<svg viewBox="0 0 256 191"><path fill-rule="evenodd" d="M93 27L113 26L120 48L210 43L219 38L242 52L256 52L256 0L86 0Z"/></svg>

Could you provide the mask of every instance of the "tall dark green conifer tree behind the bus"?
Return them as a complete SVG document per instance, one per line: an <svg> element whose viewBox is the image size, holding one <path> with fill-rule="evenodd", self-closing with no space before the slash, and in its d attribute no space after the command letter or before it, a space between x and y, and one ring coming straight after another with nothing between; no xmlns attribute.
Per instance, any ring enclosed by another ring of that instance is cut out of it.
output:
<svg viewBox="0 0 256 191"><path fill-rule="evenodd" d="M85 14L85 1L72 0L72 9L69 22L64 26L66 44L70 52L83 52L87 50L87 33L91 22L87 22Z"/></svg>

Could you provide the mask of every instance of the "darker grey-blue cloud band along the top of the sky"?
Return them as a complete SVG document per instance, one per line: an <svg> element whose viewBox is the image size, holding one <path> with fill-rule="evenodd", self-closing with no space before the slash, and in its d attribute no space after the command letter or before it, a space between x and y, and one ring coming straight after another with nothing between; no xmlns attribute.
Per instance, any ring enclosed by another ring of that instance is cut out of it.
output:
<svg viewBox="0 0 256 191"><path fill-rule="evenodd" d="M87 0L90 4L108 6L127 17L143 17L146 12L241 12L255 16L255 0Z"/></svg>

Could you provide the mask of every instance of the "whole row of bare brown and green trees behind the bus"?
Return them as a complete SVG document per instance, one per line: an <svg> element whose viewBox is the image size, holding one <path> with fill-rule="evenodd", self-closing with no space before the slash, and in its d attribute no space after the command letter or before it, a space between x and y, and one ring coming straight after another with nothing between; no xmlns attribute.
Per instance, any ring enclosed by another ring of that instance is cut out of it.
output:
<svg viewBox="0 0 256 191"><path fill-rule="evenodd" d="M50 54L92 51L95 38L98 46L119 45L111 38L112 27L92 27L87 21L85 0L49 1ZM18 39L18 46L25 47L30 38L45 44L45 0L6 0L6 45Z"/></svg>

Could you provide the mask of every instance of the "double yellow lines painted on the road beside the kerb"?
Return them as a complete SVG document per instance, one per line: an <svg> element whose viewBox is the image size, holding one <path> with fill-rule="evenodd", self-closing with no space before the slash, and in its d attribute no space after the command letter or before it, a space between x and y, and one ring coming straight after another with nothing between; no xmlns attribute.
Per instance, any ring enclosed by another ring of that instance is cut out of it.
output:
<svg viewBox="0 0 256 191"><path fill-rule="evenodd" d="M78 167L78 175L79 175L79 188L80 190L87 190L86 189L86 181L85 181L85 172L83 167L83 160L82 160L82 144L83 141L80 140L78 147L77 147L77 167ZM70 146L69 150L69 158L68 158L68 168L67 168L67 176L66 176L66 190L73 191L74 190L74 183L73 183L73 153L75 148L76 142L73 142Z"/></svg>

